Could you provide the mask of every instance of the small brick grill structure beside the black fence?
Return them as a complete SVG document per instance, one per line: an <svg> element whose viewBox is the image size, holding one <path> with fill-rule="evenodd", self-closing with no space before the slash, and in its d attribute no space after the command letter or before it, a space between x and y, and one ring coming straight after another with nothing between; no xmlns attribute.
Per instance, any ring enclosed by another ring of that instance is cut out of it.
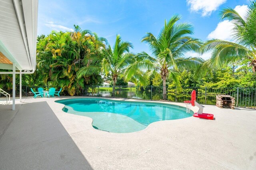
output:
<svg viewBox="0 0 256 170"><path fill-rule="evenodd" d="M235 98L230 95L217 95L216 106L220 108L231 108L235 109Z"/></svg>

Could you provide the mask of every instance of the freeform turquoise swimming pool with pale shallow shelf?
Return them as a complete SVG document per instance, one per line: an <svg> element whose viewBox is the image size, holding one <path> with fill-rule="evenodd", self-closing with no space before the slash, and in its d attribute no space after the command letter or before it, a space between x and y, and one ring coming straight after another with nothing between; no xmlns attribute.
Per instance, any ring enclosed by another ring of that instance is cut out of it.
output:
<svg viewBox="0 0 256 170"><path fill-rule="evenodd" d="M91 117L95 129L130 133L145 129L150 123L162 120L183 119L193 115L181 106L150 102L125 102L101 98L57 100L64 104L63 111Z"/></svg>

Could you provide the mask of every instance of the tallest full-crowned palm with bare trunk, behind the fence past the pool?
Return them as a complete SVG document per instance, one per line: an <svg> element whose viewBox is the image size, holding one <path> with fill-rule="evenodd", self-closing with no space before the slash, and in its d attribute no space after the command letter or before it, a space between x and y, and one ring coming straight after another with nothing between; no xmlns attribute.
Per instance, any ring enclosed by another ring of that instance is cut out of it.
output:
<svg viewBox="0 0 256 170"><path fill-rule="evenodd" d="M198 51L200 41L189 35L193 33L193 26L189 23L176 23L181 17L174 15L160 31L158 37L147 33L142 42L149 45L151 57L146 52L139 53L136 62L128 70L127 78L130 78L137 69L150 70L148 74L157 71L163 80L163 99L167 99L166 79L170 77L176 85L180 85L177 71L181 68L196 68L202 59L184 57L190 51Z"/></svg>

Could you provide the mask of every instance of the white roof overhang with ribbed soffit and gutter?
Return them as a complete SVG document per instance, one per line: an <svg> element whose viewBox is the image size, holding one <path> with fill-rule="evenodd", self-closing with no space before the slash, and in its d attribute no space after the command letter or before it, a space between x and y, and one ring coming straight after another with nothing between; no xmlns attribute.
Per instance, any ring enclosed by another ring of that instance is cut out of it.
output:
<svg viewBox="0 0 256 170"><path fill-rule="evenodd" d="M0 0L0 51L18 69L35 70L37 15L38 0Z"/></svg>

